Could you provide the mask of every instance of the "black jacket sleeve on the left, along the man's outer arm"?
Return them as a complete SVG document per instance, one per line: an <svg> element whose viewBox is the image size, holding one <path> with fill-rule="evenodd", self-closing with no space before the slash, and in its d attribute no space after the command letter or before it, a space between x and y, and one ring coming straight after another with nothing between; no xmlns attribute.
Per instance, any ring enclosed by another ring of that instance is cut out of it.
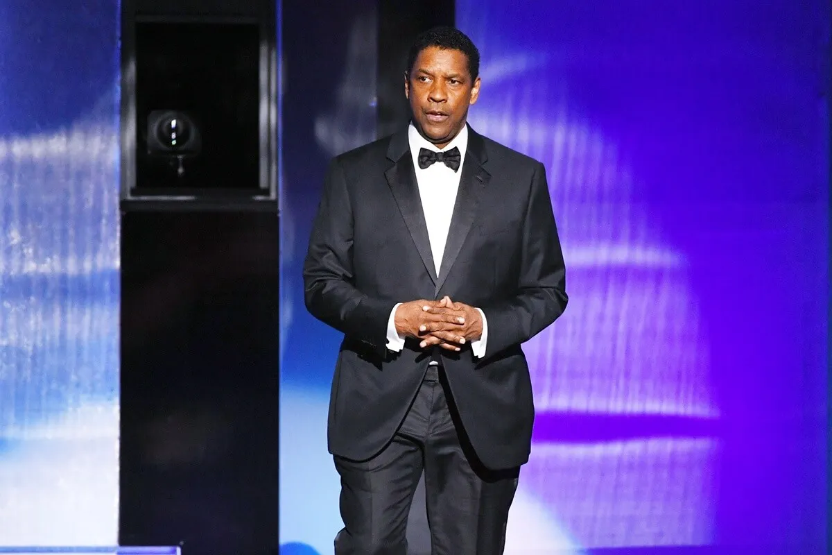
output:
<svg viewBox="0 0 832 555"><path fill-rule="evenodd" d="M318 320L384 356L387 324L395 303L374 299L355 288L353 218L346 176L336 158L326 172L304 260L305 305Z"/></svg>

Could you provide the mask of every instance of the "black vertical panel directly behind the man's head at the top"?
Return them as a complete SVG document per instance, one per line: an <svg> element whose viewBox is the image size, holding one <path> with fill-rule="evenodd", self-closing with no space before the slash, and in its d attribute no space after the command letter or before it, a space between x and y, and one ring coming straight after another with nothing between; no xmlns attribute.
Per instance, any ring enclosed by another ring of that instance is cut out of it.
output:
<svg viewBox="0 0 832 555"><path fill-rule="evenodd" d="M453 0L379 1L378 130L386 136L409 120L404 71L410 45L418 33L454 24Z"/></svg>

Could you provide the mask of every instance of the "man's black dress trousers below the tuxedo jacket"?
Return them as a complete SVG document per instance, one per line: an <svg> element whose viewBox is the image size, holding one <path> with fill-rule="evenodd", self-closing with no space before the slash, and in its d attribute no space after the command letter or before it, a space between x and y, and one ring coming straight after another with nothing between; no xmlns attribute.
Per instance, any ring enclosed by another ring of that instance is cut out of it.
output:
<svg viewBox="0 0 832 555"><path fill-rule="evenodd" d="M336 555L406 555L422 473L433 555L499 555L519 468L484 468L468 442L444 370L429 366L392 441L373 458L334 457L344 528Z"/></svg>

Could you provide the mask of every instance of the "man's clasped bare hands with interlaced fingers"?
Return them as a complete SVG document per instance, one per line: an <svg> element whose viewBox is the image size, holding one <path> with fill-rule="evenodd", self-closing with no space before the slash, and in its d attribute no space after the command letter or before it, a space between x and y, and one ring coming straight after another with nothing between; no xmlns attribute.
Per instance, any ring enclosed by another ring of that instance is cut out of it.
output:
<svg viewBox="0 0 832 555"><path fill-rule="evenodd" d="M399 305L394 322L400 335L422 339L422 349L439 345L458 352L463 344L483 336L479 311L455 303L447 295L441 300L412 300Z"/></svg>

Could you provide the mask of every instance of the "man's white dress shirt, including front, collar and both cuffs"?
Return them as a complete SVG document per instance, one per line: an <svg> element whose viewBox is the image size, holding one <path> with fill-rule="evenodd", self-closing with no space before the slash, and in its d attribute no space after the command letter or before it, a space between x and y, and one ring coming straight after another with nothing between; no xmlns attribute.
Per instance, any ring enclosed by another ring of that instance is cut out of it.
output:
<svg viewBox="0 0 832 555"><path fill-rule="evenodd" d="M459 134L453 137L443 149L438 149L430 141L419 135L413 123L408 128L408 139L410 142L410 156L413 156L414 168L416 170L416 182L418 194L422 200L425 224L428 225L428 240L430 250L433 254L433 264L436 266L436 275L439 275L439 268L442 267L442 256L445 252L445 241L448 240L448 229L451 226L453 216L453 205L457 201L459 190L459 176L462 175L465 163L465 151L468 148L468 126L464 126ZM418 166L418 151L422 148L434 152L450 151L454 147L459 149L460 161L458 171L442 162L435 162L422 169ZM387 348L392 351L404 349L404 336L396 331L395 315L398 305L393 307L387 323ZM482 358L485 355L486 341L488 340L488 324L485 314L477 309L483 319L483 335L476 341L471 342L471 349L474 356Z"/></svg>

